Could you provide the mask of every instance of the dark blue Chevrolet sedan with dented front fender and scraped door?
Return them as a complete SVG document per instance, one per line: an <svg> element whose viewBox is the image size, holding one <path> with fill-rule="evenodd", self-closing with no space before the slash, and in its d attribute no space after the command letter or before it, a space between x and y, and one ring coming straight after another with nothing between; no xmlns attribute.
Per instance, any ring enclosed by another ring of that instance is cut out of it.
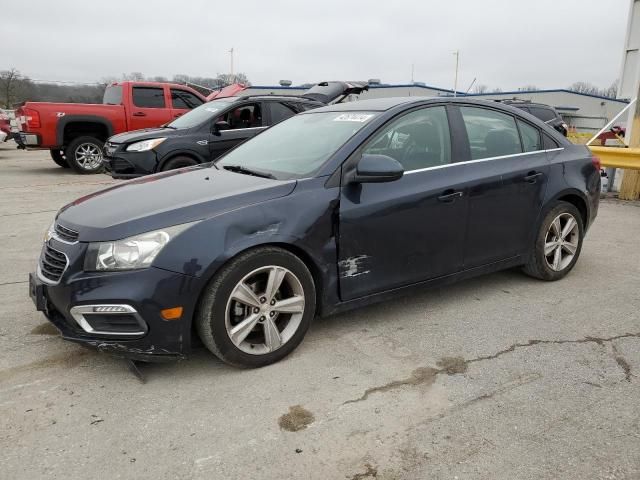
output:
<svg viewBox="0 0 640 480"><path fill-rule="evenodd" d="M516 266L564 277L599 183L586 147L506 105L333 105L65 206L30 292L68 340L162 360L197 334L259 367L318 315Z"/></svg>

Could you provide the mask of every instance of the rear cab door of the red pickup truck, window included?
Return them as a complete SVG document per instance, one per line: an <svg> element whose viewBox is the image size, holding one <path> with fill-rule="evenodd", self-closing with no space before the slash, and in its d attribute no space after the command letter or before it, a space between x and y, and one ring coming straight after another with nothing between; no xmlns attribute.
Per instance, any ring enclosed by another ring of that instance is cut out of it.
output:
<svg viewBox="0 0 640 480"><path fill-rule="evenodd" d="M134 85L131 90L131 130L159 127L171 120L165 87Z"/></svg>

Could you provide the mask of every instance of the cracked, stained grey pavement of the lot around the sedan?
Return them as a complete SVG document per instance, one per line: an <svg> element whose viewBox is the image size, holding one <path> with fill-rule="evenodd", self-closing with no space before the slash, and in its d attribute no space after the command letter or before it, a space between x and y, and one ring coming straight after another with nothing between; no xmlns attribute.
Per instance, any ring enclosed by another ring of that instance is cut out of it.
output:
<svg viewBox="0 0 640 480"><path fill-rule="evenodd" d="M640 204L564 280L506 271L317 320L284 361L125 363L27 293L68 201L113 183L0 146L0 478L640 478ZM123 205L123 208L126 206Z"/></svg>

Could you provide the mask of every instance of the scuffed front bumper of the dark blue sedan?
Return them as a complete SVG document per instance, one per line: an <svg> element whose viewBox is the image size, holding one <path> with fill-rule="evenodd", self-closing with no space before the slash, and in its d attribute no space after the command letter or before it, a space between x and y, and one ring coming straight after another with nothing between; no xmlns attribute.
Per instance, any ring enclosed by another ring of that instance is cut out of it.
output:
<svg viewBox="0 0 640 480"><path fill-rule="evenodd" d="M64 248L55 239L50 242L54 242L55 248ZM201 288L199 279L154 267L84 272L78 268L84 257L84 247L81 248L80 254L66 252L69 266L57 285L47 283L38 274L29 276L29 293L36 308L60 330L64 339L137 360L171 360L190 353L191 319ZM163 309L177 306L183 307L179 319L162 318ZM132 327L127 315L137 319L138 327ZM126 323L127 327L118 332L117 322L116 327L114 322L109 323L111 318ZM108 326L106 331L104 325Z"/></svg>

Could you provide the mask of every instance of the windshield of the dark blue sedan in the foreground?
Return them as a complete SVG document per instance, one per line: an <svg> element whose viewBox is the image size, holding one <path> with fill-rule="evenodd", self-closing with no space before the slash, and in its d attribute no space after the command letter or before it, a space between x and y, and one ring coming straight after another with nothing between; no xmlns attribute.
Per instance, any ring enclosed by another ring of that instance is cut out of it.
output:
<svg viewBox="0 0 640 480"><path fill-rule="evenodd" d="M222 157L216 165L240 166L279 180L316 172L375 112L322 112L279 123Z"/></svg>

